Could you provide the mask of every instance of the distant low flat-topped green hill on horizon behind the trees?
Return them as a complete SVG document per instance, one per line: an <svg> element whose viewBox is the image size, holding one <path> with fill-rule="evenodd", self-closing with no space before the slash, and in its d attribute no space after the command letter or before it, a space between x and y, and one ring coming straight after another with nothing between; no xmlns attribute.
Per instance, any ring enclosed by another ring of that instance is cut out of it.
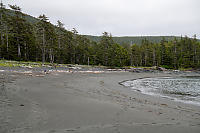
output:
<svg viewBox="0 0 200 133"><path fill-rule="evenodd" d="M85 35L88 39L99 42L101 40L101 36L90 36ZM178 36L124 36L124 37L113 37L113 40L119 44L141 44L142 40L147 39L152 43L159 43L163 38L166 41L171 41L174 38L180 39Z"/></svg>

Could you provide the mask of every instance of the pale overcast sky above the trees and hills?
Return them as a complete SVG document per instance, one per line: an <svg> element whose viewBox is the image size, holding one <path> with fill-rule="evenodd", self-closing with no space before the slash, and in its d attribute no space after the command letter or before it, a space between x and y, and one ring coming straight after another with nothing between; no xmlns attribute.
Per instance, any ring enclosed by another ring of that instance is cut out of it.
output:
<svg viewBox="0 0 200 133"><path fill-rule="evenodd" d="M3 0L24 13L45 14L80 34L188 35L200 38L200 0Z"/></svg>

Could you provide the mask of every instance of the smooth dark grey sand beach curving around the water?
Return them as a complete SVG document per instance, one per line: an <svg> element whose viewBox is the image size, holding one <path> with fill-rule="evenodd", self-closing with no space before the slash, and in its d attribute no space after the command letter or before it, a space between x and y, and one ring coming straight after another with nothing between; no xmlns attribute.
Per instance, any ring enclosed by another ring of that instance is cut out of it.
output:
<svg viewBox="0 0 200 133"><path fill-rule="evenodd" d="M144 95L119 84L173 74L1 74L11 78L1 81L6 91L0 96L0 133L200 132L199 106Z"/></svg>

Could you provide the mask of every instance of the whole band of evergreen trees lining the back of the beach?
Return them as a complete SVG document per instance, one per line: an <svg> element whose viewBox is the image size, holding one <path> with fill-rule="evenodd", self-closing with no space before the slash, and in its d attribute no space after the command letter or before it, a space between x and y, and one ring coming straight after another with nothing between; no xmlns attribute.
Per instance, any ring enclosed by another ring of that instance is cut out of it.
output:
<svg viewBox="0 0 200 133"><path fill-rule="evenodd" d="M141 45L117 44L104 32L100 42L79 35L76 29L68 31L60 21L52 25L45 15L30 23L21 8L9 5L9 14L0 5L0 58L19 61L42 61L64 64L89 64L111 67L163 66L198 68L200 43L194 38L162 39L152 43L144 39Z"/></svg>

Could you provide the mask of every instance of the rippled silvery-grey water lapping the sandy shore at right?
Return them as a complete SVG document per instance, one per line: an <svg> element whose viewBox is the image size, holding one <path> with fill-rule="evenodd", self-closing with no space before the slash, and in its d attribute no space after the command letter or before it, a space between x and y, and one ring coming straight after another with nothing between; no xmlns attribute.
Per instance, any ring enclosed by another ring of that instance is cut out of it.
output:
<svg viewBox="0 0 200 133"><path fill-rule="evenodd" d="M147 95L200 106L200 76L144 78L126 81L123 85Z"/></svg>

